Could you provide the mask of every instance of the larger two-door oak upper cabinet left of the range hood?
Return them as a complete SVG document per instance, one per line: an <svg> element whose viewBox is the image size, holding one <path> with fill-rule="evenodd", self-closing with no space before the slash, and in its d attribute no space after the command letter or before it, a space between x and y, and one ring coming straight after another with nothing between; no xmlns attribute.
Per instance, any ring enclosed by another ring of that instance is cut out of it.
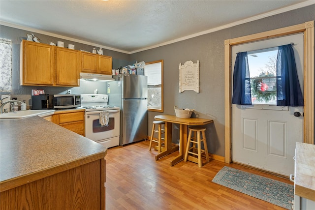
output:
<svg viewBox="0 0 315 210"><path fill-rule="evenodd" d="M21 42L20 78L26 86L79 86L80 51Z"/></svg>

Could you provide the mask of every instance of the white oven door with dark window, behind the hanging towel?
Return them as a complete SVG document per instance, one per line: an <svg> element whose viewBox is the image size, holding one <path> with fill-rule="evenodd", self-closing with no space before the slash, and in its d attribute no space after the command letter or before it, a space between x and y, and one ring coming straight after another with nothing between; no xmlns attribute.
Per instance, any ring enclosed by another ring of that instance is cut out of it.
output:
<svg viewBox="0 0 315 210"><path fill-rule="evenodd" d="M120 109L108 111L108 126L99 123L100 111L85 112L85 137L100 142L104 139L118 137L120 134Z"/></svg>

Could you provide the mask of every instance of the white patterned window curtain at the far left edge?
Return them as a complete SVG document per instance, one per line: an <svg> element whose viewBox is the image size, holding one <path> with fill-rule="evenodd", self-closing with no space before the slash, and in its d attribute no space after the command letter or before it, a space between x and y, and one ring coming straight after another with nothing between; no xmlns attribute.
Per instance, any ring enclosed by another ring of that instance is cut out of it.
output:
<svg viewBox="0 0 315 210"><path fill-rule="evenodd" d="M12 41L0 38L0 92L12 91Z"/></svg>

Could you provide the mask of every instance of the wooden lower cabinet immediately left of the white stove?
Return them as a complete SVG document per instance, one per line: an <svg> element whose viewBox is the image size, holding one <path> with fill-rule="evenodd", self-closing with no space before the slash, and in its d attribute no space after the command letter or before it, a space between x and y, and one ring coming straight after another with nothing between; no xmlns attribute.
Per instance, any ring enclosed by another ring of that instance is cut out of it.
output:
<svg viewBox="0 0 315 210"><path fill-rule="evenodd" d="M84 136L84 112L85 110L56 111L52 122Z"/></svg>

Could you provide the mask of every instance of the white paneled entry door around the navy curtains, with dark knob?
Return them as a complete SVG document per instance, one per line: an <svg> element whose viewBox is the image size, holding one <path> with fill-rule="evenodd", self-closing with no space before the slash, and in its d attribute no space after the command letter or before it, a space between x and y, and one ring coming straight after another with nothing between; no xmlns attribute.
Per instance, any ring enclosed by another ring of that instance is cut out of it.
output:
<svg viewBox="0 0 315 210"><path fill-rule="evenodd" d="M302 33L233 46L232 70L238 52L272 48L291 42L294 43L298 78L303 92ZM303 142L303 107L232 104L233 162L289 176L294 174L295 142Z"/></svg>

